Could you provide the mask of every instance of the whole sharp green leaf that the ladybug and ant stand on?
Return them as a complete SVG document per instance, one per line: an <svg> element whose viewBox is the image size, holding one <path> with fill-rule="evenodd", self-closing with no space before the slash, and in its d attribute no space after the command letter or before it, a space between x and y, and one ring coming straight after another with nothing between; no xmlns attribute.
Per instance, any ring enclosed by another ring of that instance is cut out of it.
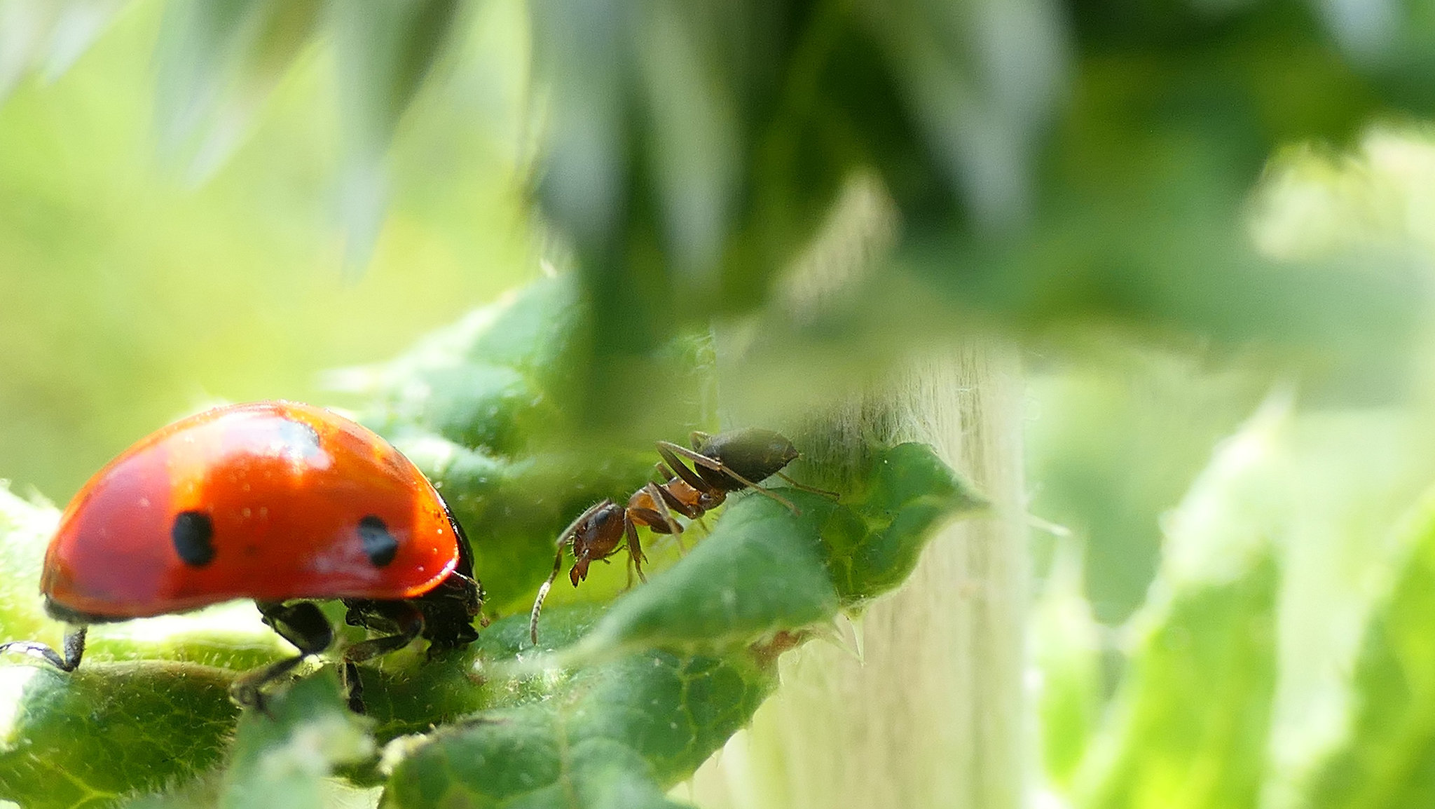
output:
<svg viewBox="0 0 1435 809"><path fill-rule="evenodd" d="M321 806L342 773L383 785L389 806L667 806L664 790L749 721L782 651L900 583L941 523L982 503L930 447L872 447L841 501L776 489L794 513L735 496L686 558L607 609L550 609L544 641L560 651L541 654L527 641L527 608L554 537L594 487L630 491L651 463L634 448L554 448L577 435L565 402L583 313L567 279L545 279L392 364L337 376L369 397L372 422L428 467L466 524L495 593L486 611L505 615L479 642L364 667L366 718L343 707L326 667L235 726L230 680L278 652L248 634L251 609L241 624L235 605L148 637L98 627L75 674L0 667L0 683L14 684L0 701L0 717L14 717L0 744L0 798ZM706 384L703 345L683 341L659 356L673 385ZM0 553L30 575L7 579L27 592L6 592L3 627L55 639L29 589L55 512L0 497ZM377 746L390 741L380 762Z"/></svg>

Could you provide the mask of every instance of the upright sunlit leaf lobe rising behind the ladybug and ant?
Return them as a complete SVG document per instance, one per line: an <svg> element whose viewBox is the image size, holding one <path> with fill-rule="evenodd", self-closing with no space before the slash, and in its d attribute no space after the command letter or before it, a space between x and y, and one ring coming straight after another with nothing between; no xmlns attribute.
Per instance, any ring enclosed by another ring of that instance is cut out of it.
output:
<svg viewBox="0 0 1435 809"><path fill-rule="evenodd" d="M603 497L626 500L649 479L653 440L710 425L712 345L696 336L634 364L643 384L627 431L591 430L580 300L571 276L540 279L387 364L330 376L366 398L362 421L439 489L472 540L495 614L532 602L574 514Z"/></svg>

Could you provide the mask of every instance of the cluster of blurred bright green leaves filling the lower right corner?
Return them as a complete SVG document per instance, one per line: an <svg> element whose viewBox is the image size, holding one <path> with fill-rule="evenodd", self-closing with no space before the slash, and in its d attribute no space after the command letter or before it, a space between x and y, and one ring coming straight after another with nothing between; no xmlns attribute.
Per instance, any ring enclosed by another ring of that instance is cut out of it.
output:
<svg viewBox="0 0 1435 809"><path fill-rule="evenodd" d="M1431 440L1413 414L1273 397L1162 520L1125 644L1065 540L1036 622L1050 787L1078 809L1428 802Z"/></svg>

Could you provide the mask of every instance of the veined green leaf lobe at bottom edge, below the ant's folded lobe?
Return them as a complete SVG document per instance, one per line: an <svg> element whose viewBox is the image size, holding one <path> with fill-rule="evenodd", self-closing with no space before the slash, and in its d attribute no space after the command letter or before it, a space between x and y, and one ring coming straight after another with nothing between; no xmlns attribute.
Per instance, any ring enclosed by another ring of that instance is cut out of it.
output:
<svg viewBox="0 0 1435 809"><path fill-rule="evenodd" d="M554 624L564 624L557 611ZM527 616L489 632L522 642ZM544 698L399 740L385 806L669 806L772 687L746 655L637 652L534 675ZM531 683L531 681L530 681Z"/></svg>

